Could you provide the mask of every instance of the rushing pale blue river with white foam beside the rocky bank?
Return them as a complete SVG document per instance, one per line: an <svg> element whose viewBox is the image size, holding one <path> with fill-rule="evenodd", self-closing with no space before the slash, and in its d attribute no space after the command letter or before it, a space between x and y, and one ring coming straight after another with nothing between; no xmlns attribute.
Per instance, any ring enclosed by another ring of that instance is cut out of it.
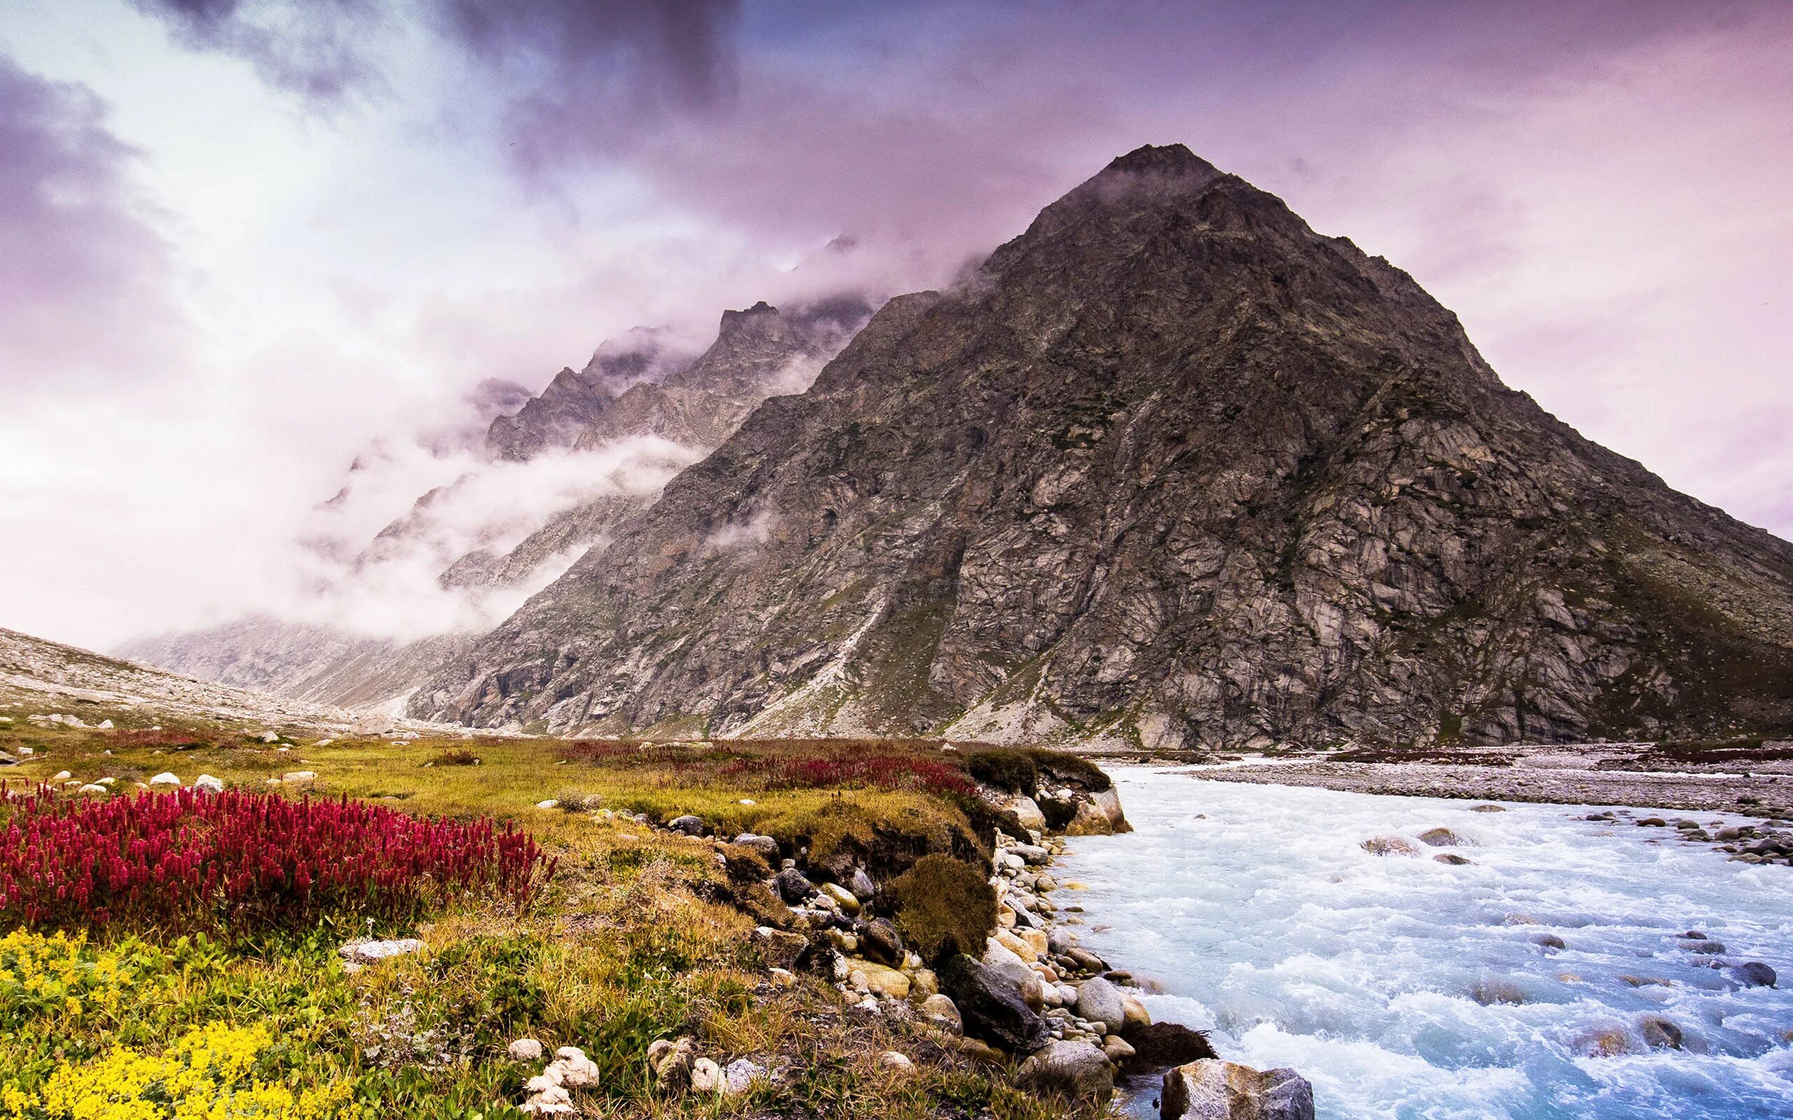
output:
<svg viewBox="0 0 1793 1120"><path fill-rule="evenodd" d="M1572 819L1583 806L1112 772L1135 831L1072 840L1060 878L1088 891L1054 898L1085 907L1085 946L1162 984L1144 996L1155 1018L1212 1030L1221 1057L1293 1066L1321 1120L1793 1116L1793 867ZM1361 848L1438 826L1470 846ZM1689 952L1685 930L1727 952ZM1741 987L1714 959L1764 961L1782 986ZM1644 1016L1684 1048L1651 1050ZM1590 1055L1596 1030L1628 1052Z"/></svg>

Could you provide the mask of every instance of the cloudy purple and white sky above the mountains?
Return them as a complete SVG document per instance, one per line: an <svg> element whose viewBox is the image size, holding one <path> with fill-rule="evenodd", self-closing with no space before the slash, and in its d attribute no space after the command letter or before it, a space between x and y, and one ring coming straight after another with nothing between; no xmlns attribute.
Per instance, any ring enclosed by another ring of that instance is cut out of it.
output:
<svg viewBox="0 0 1793 1120"><path fill-rule="evenodd" d="M402 514L482 382L945 283L1169 142L1793 538L1793 4L0 0L0 625L290 597L348 464Z"/></svg>

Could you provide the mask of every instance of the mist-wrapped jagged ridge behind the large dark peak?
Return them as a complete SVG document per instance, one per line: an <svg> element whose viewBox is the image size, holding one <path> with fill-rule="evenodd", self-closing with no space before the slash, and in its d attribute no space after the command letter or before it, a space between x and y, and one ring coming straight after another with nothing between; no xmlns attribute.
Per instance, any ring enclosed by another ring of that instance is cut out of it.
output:
<svg viewBox="0 0 1793 1120"><path fill-rule="evenodd" d="M767 394L807 387L870 315L848 294L787 312L762 301L723 312L715 340L697 355L663 332L637 330L601 346L579 373L563 369L540 394L524 394L520 407L513 387L484 385L511 401L484 434L484 462L420 496L337 575L337 593L350 588L362 599L420 577L434 584L423 595L409 588L409 599L446 609L436 633L400 640L251 615L134 638L117 654L283 697L402 706L445 658L464 654L481 629L653 504L665 478L726 439ZM527 470L533 462L554 468L547 478L565 487L563 498L533 493L543 480ZM348 495L344 487L326 505Z"/></svg>

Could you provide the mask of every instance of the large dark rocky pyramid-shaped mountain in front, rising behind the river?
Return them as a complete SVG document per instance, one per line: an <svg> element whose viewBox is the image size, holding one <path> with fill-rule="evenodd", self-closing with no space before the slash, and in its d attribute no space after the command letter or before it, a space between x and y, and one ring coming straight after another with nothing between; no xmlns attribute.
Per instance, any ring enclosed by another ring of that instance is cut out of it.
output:
<svg viewBox="0 0 1793 1120"><path fill-rule="evenodd" d="M1148 747L1793 728L1793 545L1182 145L884 305L414 715Z"/></svg>

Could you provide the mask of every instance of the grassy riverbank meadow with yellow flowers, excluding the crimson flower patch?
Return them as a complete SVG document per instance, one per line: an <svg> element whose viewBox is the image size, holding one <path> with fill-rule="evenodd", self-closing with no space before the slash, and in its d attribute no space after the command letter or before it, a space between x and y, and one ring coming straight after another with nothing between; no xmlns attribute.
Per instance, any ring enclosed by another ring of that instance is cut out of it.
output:
<svg viewBox="0 0 1793 1120"><path fill-rule="evenodd" d="M0 778L18 788L68 771L65 783L111 778L111 797L131 797L161 772L212 774L233 790L493 817L527 830L554 874L522 907L466 887L371 928L348 905L271 928L14 921L0 930L0 1116L516 1116L541 1072L509 1057L524 1036L597 1063L599 1084L574 1095L586 1116L1076 1115L1015 1091L1008 1064L972 1061L950 1036L853 1011L823 975L771 971L753 930L791 912L760 878L769 867L654 826L696 814L880 880L927 853L986 866L990 821L966 796L965 756L891 742L260 742L136 722L0 724L0 751L22 758ZM308 790L269 783L299 771L316 774ZM425 948L351 971L337 950L357 935ZM681 1036L776 1081L662 1093L647 1047ZM888 1050L914 1068L880 1064Z"/></svg>

